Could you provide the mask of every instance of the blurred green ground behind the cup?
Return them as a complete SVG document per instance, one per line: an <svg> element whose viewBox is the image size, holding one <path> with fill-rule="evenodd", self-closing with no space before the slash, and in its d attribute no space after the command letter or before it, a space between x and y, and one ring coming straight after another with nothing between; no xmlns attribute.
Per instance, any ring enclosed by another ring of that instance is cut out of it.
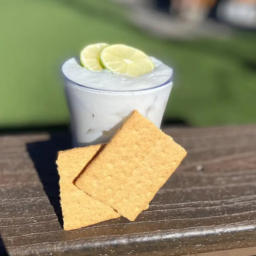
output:
<svg viewBox="0 0 256 256"><path fill-rule="evenodd" d="M0 128L65 125L61 64L87 44L124 43L175 70L165 120L256 122L256 34L171 41L131 25L107 0L0 0Z"/></svg>

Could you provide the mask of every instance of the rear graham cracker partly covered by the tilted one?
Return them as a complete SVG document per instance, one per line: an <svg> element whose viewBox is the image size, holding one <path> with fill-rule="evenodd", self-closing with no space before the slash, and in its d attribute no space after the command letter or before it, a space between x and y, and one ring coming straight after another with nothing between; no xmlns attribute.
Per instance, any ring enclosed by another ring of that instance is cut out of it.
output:
<svg viewBox="0 0 256 256"><path fill-rule="evenodd" d="M60 151L58 154L56 163L60 175L64 230L85 227L121 216L112 207L84 193L74 184L84 166L88 165L104 146L105 144L74 148Z"/></svg>

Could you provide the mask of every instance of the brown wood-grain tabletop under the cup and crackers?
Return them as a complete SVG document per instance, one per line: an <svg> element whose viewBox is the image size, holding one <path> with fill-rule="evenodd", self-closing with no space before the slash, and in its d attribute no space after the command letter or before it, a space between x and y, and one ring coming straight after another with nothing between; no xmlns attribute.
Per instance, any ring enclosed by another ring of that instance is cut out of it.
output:
<svg viewBox="0 0 256 256"><path fill-rule="evenodd" d="M256 125L164 130L188 156L136 221L64 231L68 134L0 137L0 255L185 255L256 245ZM256 252L255 252L256 254Z"/></svg>

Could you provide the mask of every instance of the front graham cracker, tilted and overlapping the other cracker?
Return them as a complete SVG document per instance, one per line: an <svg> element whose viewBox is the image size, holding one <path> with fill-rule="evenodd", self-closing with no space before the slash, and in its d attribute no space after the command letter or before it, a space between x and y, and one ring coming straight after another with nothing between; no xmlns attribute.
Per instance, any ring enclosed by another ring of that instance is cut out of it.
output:
<svg viewBox="0 0 256 256"><path fill-rule="evenodd" d="M138 111L76 181L76 186L133 221L187 152Z"/></svg>

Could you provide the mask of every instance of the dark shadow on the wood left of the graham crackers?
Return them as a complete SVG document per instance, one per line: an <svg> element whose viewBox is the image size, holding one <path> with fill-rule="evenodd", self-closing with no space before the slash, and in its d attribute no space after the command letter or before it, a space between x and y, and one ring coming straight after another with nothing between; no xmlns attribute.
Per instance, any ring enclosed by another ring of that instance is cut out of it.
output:
<svg viewBox="0 0 256 256"><path fill-rule="evenodd" d="M39 141L27 144L27 151L34 162L35 169L43 184L46 195L54 208L60 225L63 227L62 211L60 206L59 174L55 161L60 150L70 148L71 139L65 133L51 135L48 141Z"/></svg>

